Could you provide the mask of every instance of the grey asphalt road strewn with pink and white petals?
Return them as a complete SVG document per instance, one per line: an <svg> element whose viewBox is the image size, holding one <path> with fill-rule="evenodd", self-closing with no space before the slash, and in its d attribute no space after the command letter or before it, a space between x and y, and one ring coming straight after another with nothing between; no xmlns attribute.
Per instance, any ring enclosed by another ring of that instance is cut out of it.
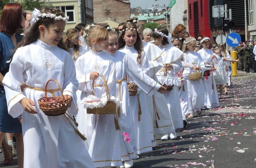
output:
<svg viewBox="0 0 256 168"><path fill-rule="evenodd" d="M134 161L134 168L254 168L256 167L256 82L233 81L221 107L203 111L177 130L176 140L161 141ZM255 133L254 133L255 132ZM0 167L17 168L17 157Z"/></svg>

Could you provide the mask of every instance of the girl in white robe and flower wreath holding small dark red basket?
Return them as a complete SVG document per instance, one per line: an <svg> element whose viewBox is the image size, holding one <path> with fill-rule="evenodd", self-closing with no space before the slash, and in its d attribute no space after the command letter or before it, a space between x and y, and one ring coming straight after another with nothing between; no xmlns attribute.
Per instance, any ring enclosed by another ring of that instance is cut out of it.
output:
<svg viewBox="0 0 256 168"><path fill-rule="evenodd" d="M211 67L211 65L213 64L212 60L214 58L213 56L214 52L208 49L210 44L210 38L204 37L200 41L200 43L201 43L200 44L201 49L197 52L203 58L205 67ZM204 106L206 108L218 107L219 99L218 99L214 76L211 72L211 68L210 68L210 75L203 77L203 84L204 84Z"/></svg>

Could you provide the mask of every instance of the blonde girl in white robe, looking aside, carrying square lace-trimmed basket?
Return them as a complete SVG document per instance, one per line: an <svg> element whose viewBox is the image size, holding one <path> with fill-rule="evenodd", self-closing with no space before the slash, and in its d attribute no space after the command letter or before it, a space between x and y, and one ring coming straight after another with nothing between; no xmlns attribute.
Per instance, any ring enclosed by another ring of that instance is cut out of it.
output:
<svg viewBox="0 0 256 168"><path fill-rule="evenodd" d="M76 63L78 89L82 91L80 99L92 95L101 98L106 93L103 75L110 95L116 95L115 59L106 50L108 31L101 26L88 26L84 38L91 50L80 56ZM96 167L121 166L129 160L121 132L116 130L114 114L87 114L83 104L78 105L78 129L87 137L84 142Z"/></svg>

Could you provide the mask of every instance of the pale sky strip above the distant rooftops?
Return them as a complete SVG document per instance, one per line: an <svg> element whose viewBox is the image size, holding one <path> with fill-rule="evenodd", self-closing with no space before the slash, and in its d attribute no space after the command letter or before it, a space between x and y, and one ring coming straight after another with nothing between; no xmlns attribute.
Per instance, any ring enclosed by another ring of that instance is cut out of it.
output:
<svg viewBox="0 0 256 168"><path fill-rule="evenodd" d="M142 9L147 9L149 7L152 7L152 5L155 6L157 4L159 4L159 6L163 6L163 4L168 6L169 0L130 0L130 3L131 8L140 6Z"/></svg>

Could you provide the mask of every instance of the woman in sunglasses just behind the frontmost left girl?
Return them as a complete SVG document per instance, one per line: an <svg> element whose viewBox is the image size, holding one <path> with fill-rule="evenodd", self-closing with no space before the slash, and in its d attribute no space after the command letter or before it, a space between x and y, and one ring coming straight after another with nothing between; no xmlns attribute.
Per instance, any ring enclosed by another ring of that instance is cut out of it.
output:
<svg viewBox="0 0 256 168"><path fill-rule="evenodd" d="M77 58L84 54L83 46L78 44L79 31L77 29L69 29L63 37L64 43L70 49L70 55L73 57L74 62Z"/></svg>

